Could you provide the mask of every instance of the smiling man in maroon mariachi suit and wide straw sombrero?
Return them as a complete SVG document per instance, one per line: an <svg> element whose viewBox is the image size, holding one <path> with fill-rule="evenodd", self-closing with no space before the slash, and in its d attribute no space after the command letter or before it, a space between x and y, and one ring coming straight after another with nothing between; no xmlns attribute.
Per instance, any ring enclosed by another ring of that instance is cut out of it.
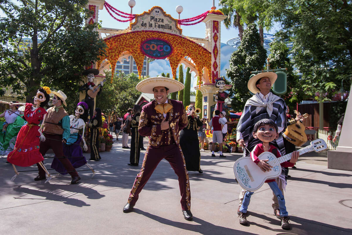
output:
<svg viewBox="0 0 352 235"><path fill-rule="evenodd" d="M188 172L182 154L179 132L187 126L187 114L182 102L170 100L167 95L182 90L184 85L166 77L151 77L139 82L136 89L143 93L154 94L155 100L142 108L139 118L139 134L149 136L142 169L134 181L130 197L123 212L132 211L140 191L162 159L169 161L178 176L181 192L182 213L186 220L192 220L190 211L191 193Z"/></svg>

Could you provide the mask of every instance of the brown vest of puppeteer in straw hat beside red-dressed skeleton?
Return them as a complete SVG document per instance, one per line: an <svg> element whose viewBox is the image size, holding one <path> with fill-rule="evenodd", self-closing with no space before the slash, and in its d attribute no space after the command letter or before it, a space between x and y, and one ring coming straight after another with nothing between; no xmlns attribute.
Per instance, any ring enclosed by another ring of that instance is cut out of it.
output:
<svg viewBox="0 0 352 235"><path fill-rule="evenodd" d="M45 122L43 125L43 132L46 132L48 134L62 135L64 129L62 129L60 125L55 124L58 124L64 116L68 116L68 113L62 106L58 108L57 112L55 111L55 106L49 108L48 110L46 110L46 112L48 112L48 114L46 114Z"/></svg>

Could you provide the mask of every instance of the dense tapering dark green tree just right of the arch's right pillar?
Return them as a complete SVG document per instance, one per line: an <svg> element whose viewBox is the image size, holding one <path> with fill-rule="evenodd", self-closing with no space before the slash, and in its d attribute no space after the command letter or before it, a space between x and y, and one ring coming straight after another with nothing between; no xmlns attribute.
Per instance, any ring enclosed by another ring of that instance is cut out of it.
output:
<svg viewBox="0 0 352 235"><path fill-rule="evenodd" d="M256 25L250 24L243 32L243 39L237 51L231 55L230 66L226 76L232 81L230 97L234 110L242 110L246 101L252 96L247 88L251 71L263 69L266 50L260 44Z"/></svg>

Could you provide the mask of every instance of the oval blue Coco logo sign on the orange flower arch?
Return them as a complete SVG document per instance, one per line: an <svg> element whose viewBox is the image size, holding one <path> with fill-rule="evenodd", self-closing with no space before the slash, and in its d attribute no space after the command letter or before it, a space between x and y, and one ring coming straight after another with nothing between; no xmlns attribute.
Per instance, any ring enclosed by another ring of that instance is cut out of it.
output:
<svg viewBox="0 0 352 235"><path fill-rule="evenodd" d="M140 50L149 58L164 59L172 52L169 43L161 39L148 39L140 45Z"/></svg>

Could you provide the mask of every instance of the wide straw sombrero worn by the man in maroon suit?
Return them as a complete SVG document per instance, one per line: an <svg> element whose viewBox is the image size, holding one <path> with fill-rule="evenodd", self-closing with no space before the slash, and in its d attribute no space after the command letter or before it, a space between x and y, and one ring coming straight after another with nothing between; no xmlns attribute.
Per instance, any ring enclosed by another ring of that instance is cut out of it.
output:
<svg viewBox="0 0 352 235"><path fill-rule="evenodd" d="M175 79L162 76L146 78L136 85L138 91L148 94L153 94L154 87L166 87L169 88L169 93L172 93L182 90L184 85Z"/></svg>

